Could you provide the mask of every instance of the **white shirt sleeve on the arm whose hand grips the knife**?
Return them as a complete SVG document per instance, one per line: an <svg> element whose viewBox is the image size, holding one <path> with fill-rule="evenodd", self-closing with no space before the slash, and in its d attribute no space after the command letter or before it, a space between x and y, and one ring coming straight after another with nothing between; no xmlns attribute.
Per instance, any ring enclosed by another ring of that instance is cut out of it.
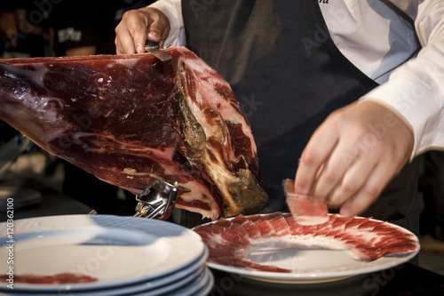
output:
<svg viewBox="0 0 444 296"><path fill-rule="evenodd" d="M149 7L156 8L165 13L170 20L170 33L163 47L185 46L184 20L182 18L182 6L180 0L159 0Z"/></svg>

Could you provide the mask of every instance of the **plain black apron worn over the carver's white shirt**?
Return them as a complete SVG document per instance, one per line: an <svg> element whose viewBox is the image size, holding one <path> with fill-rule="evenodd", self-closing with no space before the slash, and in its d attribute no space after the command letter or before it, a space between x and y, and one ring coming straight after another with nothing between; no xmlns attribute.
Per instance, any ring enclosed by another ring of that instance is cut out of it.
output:
<svg viewBox="0 0 444 296"><path fill-rule="evenodd" d="M258 146L266 212L288 211L281 181L294 179L314 130L377 86L329 36L318 1L182 1L187 47L231 84ZM417 165L410 164L362 215L416 231Z"/></svg>

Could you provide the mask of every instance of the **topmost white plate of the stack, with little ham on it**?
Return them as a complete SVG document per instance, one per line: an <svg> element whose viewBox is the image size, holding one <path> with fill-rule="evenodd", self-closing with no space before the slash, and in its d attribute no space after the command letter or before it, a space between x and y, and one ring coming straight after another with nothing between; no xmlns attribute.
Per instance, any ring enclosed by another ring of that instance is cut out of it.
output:
<svg viewBox="0 0 444 296"><path fill-rule="evenodd" d="M0 258L6 258L6 225L0 226ZM162 220L110 215L67 215L14 221L14 272L36 276L80 273L83 284L14 284L15 291L109 289L154 281L204 256L201 237ZM8 266L2 264L4 274ZM4 289L5 284L0 286ZM146 289L147 290L147 289Z"/></svg>

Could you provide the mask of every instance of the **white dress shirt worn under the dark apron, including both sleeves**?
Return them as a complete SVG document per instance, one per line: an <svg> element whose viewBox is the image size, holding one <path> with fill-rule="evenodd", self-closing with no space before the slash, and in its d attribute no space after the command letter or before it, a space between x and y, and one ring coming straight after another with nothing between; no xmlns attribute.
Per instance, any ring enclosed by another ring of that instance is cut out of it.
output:
<svg viewBox="0 0 444 296"><path fill-rule="evenodd" d="M444 0L323 0L337 48L380 84L361 100L397 110L415 136L412 158L444 148ZM186 44L180 0L151 6L170 20L165 47Z"/></svg>

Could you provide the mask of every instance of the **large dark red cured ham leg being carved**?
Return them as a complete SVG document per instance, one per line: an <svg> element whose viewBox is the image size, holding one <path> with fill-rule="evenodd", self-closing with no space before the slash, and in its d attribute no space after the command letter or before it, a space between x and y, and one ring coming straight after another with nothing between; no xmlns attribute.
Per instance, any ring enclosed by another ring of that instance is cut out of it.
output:
<svg viewBox="0 0 444 296"><path fill-rule="evenodd" d="M136 195L162 177L191 190L178 208L259 212L257 148L229 84L193 52L166 52L0 60L0 118Z"/></svg>

